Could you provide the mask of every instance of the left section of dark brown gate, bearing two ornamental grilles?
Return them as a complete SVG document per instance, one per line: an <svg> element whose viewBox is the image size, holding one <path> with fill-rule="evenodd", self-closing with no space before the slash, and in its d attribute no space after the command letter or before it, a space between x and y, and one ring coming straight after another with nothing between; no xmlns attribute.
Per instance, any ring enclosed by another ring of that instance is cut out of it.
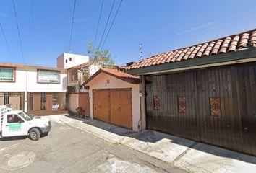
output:
<svg viewBox="0 0 256 173"><path fill-rule="evenodd" d="M197 140L195 73L146 77L147 126Z"/></svg>

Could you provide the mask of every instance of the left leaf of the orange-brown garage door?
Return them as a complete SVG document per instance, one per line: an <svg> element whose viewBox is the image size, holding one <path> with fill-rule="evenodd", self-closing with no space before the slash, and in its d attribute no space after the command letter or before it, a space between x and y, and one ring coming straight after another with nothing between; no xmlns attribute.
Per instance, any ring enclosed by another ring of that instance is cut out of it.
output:
<svg viewBox="0 0 256 173"><path fill-rule="evenodd" d="M93 118L110 123L109 90L93 90Z"/></svg>

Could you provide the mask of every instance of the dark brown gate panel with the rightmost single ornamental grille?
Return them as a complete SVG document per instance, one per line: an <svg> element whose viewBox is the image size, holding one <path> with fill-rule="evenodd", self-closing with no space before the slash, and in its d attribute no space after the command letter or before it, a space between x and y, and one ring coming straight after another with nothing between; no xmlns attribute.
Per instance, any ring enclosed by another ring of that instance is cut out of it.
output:
<svg viewBox="0 0 256 173"><path fill-rule="evenodd" d="M241 151L239 114L232 68L197 71L199 141Z"/></svg>

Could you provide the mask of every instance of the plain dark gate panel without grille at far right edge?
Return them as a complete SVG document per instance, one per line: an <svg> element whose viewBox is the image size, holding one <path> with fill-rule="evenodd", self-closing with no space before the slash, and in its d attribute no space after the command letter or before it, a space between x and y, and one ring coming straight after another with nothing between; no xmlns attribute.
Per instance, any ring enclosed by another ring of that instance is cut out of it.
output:
<svg viewBox="0 0 256 173"><path fill-rule="evenodd" d="M256 156L256 65L237 66L237 93L242 121L242 151Z"/></svg>

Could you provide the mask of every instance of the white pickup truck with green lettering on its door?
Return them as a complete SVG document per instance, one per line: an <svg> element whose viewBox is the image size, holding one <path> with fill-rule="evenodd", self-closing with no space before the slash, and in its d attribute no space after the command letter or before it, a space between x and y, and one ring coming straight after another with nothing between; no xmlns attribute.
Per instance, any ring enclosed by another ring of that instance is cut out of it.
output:
<svg viewBox="0 0 256 173"><path fill-rule="evenodd" d="M33 117L22 110L12 110L7 106L0 106L1 137L28 136L38 141L40 136L47 135L51 130L48 117Z"/></svg>

